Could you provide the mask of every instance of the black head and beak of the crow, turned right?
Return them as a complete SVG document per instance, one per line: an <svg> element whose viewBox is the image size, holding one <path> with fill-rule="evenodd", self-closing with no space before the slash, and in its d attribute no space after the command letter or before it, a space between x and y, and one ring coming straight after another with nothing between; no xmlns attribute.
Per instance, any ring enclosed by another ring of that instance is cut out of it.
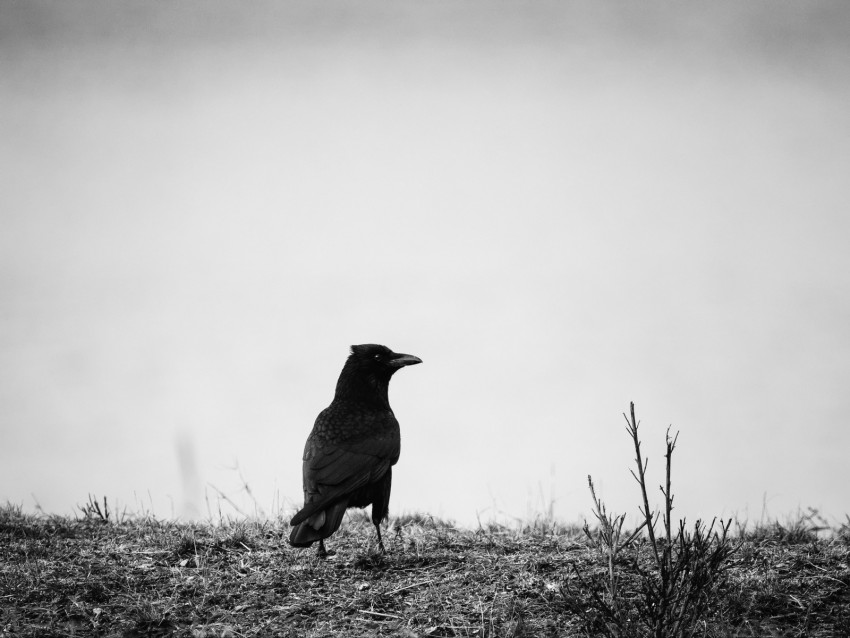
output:
<svg viewBox="0 0 850 638"><path fill-rule="evenodd" d="M384 402L390 378L405 366L422 363L422 359L412 354L393 352L386 346L364 343L351 346L351 354L337 383L337 396L340 393L371 396L377 393Z"/></svg>

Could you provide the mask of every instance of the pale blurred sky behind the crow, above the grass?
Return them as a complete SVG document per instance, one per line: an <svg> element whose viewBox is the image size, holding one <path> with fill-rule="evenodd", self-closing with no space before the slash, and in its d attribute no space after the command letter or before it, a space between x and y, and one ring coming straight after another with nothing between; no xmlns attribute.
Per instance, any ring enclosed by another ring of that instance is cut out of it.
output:
<svg viewBox="0 0 850 638"><path fill-rule="evenodd" d="M357 343L391 513L850 512L843 2L0 4L0 502L278 516Z"/></svg>

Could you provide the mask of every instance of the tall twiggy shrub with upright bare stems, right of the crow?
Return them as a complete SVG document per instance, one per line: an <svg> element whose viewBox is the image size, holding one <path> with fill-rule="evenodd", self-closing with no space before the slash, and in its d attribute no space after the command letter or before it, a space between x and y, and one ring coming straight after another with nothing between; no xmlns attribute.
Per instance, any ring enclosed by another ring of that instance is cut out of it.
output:
<svg viewBox="0 0 850 638"><path fill-rule="evenodd" d="M692 531L686 528L685 521L674 527L671 466L678 433L671 438L668 429L666 480L660 486L664 496L663 529L656 534L661 514L649 506L648 461L641 454L634 403L631 404L631 419L623 416L635 446L637 472L632 470L631 473L640 486L642 522L621 542L625 515L612 516L606 511L604 503L596 496L593 480L588 477L598 527L594 534L585 524L585 534L606 559L605 575L600 585L599 578L589 578L573 563L579 583L590 593L590 606L579 601L568 583L562 587L562 594L567 607L584 619L589 630L609 636L693 636L699 621L718 600L728 559L736 550L728 536L732 521L718 523L715 519L706 526L697 520ZM635 543L643 529L646 529L646 537ZM618 561L618 556L630 547L634 547L629 552L629 562L636 578L631 579L631 590L624 591L621 586L624 573L620 567L623 561Z"/></svg>

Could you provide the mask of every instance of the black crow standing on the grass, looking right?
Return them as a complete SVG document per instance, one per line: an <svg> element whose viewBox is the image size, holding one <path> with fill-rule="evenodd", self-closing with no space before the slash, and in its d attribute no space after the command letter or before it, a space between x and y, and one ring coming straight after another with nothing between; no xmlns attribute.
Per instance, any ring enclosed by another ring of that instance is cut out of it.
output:
<svg viewBox="0 0 850 638"><path fill-rule="evenodd" d="M319 413L304 446L304 507L292 518L289 543L309 547L333 534L349 507L372 506L378 546L387 518L392 466L401 436L387 395L390 378L404 366L422 363L409 354L368 343L351 346L331 404Z"/></svg>

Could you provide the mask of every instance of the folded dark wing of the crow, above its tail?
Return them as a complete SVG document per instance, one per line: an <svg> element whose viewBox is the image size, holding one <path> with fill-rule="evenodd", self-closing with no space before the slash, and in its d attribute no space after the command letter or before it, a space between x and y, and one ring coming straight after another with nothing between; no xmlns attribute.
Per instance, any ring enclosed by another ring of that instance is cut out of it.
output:
<svg viewBox="0 0 850 638"><path fill-rule="evenodd" d="M298 525L341 496L381 478L397 460L398 436L340 444L308 439L304 448L304 507L292 519Z"/></svg>

